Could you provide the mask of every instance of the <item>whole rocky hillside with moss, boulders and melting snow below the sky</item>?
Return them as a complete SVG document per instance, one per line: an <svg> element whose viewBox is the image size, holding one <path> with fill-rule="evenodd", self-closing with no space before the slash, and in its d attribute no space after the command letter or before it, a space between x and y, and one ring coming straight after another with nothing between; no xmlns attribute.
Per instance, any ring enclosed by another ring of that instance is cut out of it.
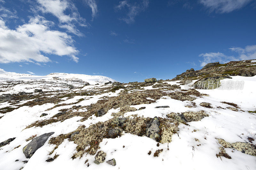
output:
<svg viewBox="0 0 256 170"><path fill-rule="evenodd" d="M256 169L255 66L129 83L4 74L0 169Z"/></svg>

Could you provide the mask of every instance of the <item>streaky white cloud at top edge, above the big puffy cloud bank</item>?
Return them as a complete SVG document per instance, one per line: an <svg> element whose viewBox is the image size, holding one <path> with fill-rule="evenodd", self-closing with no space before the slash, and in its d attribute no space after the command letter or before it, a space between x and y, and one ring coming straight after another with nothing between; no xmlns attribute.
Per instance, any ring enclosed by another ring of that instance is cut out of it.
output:
<svg viewBox="0 0 256 170"><path fill-rule="evenodd" d="M77 11L76 6L69 0L37 0L40 4L36 11L51 13L60 21L60 28L67 29L68 32L83 36L76 28L76 25L87 27L86 20ZM35 10L34 10L35 11ZM66 12L69 11L69 15Z"/></svg>

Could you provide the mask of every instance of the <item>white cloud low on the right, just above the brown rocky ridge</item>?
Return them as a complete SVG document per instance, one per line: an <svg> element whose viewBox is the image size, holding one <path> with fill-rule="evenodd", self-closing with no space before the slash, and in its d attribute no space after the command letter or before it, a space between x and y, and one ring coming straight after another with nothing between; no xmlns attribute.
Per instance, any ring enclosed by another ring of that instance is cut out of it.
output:
<svg viewBox="0 0 256 170"><path fill-rule="evenodd" d="M199 57L202 57L203 60L199 60L201 66L204 66L207 63L211 62L220 62L227 63L229 61L238 61L238 60L250 60L256 59L256 45L246 46L245 48L241 47L231 47L229 50L237 53L237 56L225 55L223 53L202 53Z"/></svg>

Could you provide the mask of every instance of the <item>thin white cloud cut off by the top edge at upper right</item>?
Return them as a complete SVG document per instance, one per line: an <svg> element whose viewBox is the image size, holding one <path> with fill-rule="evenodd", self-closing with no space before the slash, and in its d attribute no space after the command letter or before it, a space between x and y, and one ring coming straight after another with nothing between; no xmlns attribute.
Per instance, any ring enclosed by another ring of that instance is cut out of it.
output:
<svg viewBox="0 0 256 170"><path fill-rule="evenodd" d="M228 13L244 7L252 0L200 0L210 12Z"/></svg>

